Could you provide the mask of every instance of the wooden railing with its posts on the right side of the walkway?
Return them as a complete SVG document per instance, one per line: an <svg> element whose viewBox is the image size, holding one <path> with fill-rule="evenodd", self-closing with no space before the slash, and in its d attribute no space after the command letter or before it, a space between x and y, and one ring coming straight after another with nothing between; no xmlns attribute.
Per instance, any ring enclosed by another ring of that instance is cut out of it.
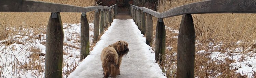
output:
<svg viewBox="0 0 256 78"><path fill-rule="evenodd" d="M145 7L130 6L130 14L146 43L152 46L152 16L158 18L156 26L155 60L162 64L165 57L166 31L163 18L183 15L178 35L177 77L194 78L195 30L191 14L205 13L256 13L256 0L208 0L187 4L159 13ZM145 14L147 22L145 24ZM146 33L144 33L146 32Z"/></svg>

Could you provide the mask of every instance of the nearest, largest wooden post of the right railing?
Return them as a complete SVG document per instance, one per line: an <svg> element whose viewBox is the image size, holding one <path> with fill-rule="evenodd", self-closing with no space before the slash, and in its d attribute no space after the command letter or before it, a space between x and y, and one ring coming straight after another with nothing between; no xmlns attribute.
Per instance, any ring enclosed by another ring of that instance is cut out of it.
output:
<svg viewBox="0 0 256 78"><path fill-rule="evenodd" d="M194 78L195 29L191 14L183 14L178 36L177 77Z"/></svg>

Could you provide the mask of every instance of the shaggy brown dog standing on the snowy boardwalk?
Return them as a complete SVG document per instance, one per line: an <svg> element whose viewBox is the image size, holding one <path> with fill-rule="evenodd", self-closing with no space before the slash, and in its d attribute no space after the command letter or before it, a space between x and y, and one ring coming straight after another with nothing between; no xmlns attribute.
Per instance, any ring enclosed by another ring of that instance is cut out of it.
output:
<svg viewBox="0 0 256 78"><path fill-rule="evenodd" d="M117 41L102 50L100 59L104 70L104 78L108 78L109 75L114 78L120 75L122 57L128 51L128 44L125 41Z"/></svg>

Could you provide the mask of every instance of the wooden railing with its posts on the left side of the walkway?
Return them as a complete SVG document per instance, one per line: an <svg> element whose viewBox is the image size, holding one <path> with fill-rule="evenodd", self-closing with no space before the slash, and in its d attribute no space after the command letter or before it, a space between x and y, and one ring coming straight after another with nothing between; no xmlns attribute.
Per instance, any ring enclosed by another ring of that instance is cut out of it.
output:
<svg viewBox="0 0 256 78"><path fill-rule="evenodd" d="M99 9L101 20L99 23ZM117 14L117 4L113 6L79 7L65 4L33 0L0 0L0 12L52 12L46 30L45 78L62 78L63 61L63 26L60 12L81 12L81 56L80 61L89 55L89 23L86 12L95 11L94 42L99 34L112 22ZM109 19L107 19L109 18ZM99 27L100 24L100 27Z"/></svg>

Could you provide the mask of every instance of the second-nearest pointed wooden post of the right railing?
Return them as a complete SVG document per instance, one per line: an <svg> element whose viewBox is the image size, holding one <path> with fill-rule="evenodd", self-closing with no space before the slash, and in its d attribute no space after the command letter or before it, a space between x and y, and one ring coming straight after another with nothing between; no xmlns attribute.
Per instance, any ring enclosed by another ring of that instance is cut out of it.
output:
<svg viewBox="0 0 256 78"><path fill-rule="evenodd" d="M162 18L159 18L156 26L156 51L155 51L155 60L160 64L165 60L165 24Z"/></svg>

